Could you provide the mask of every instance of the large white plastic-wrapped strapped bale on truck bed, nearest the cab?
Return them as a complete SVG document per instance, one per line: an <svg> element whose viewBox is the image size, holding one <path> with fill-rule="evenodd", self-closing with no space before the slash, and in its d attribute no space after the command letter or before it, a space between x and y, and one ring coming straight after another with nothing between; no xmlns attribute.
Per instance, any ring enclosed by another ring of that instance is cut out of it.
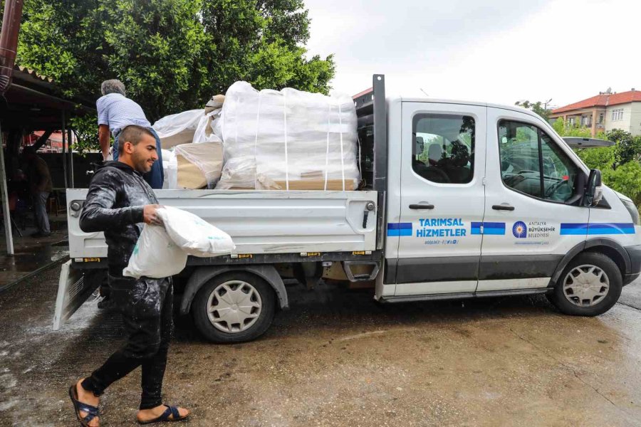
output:
<svg viewBox="0 0 641 427"><path fill-rule="evenodd" d="M271 188L264 183L277 182L277 188L289 189L292 181L304 181L328 189L338 181L340 189L355 189L360 182L357 117L348 95L291 88L259 92L236 82L225 95L221 122L214 123L214 132L222 133L227 163L220 188L245 185L233 180L246 177L246 170L231 169L238 158L253 159L251 188Z"/></svg>

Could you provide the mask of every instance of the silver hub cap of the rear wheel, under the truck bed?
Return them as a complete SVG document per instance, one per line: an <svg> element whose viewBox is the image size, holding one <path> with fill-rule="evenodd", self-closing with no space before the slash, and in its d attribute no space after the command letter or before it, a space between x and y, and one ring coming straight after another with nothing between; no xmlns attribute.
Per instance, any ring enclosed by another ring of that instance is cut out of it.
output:
<svg viewBox="0 0 641 427"><path fill-rule="evenodd" d="M256 323L262 307L261 296L254 286L241 280L229 280L209 294L207 316L218 330L237 333Z"/></svg>

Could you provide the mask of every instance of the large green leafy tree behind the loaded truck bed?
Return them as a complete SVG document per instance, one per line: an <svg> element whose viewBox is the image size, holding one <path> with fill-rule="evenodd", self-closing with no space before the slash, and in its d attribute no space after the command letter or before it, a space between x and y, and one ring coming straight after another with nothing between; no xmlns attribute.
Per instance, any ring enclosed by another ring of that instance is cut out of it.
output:
<svg viewBox="0 0 641 427"><path fill-rule="evenodd" d="M333 56L308 58L309 23L303 0L25 0L17 62L68 96L119 78L154 122L236 80L328 93Z"/></svg>

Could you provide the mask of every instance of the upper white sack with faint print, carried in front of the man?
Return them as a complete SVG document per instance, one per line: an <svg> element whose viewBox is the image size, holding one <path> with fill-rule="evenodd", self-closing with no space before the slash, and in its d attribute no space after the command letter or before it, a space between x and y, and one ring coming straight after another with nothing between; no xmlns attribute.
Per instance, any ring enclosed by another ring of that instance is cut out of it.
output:
<svg viewBox="0 0 641 427"><path fill-rule="evenodd" d="M158 209L157 215L172 241L189 255L207 258L230 254L236 249L229 234L199 216L171 206Z"/></svg>

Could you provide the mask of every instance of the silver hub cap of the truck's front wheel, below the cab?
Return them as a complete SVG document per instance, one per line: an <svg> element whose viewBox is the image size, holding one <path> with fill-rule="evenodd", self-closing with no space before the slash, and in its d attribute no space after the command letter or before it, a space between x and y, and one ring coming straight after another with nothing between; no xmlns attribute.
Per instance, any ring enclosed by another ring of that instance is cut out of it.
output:
<svg viewBox="0 0 641 427"><path fill-rule="evenodd" d="M596 265L579 265L563 280L563 295L578 307L592 307L608 295L610 279Z"/></svg>

